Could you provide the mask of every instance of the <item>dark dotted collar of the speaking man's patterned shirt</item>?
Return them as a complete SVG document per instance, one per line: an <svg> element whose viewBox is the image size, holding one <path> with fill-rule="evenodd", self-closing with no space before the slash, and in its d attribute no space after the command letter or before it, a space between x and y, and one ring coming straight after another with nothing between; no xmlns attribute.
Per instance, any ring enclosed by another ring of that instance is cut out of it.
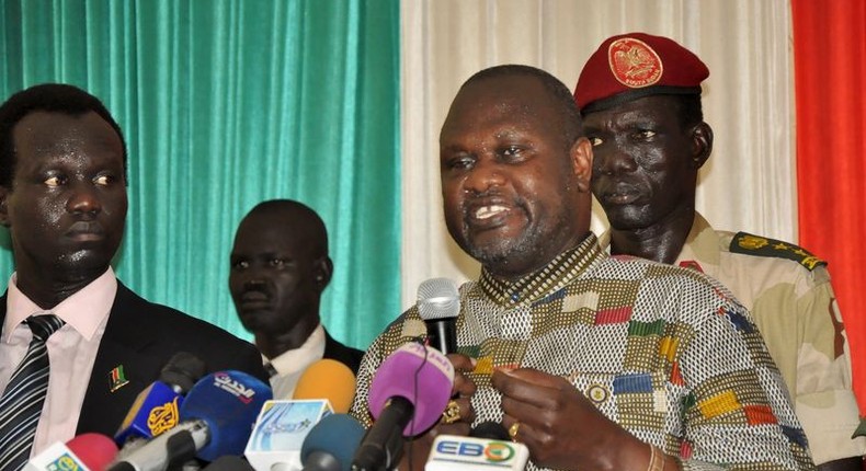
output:
<svg viewBox="0 0 866 471"><path fill-rule="evenodd" d="M560 253L543 268L515 282L495 278L482 268L478 286L500 306L532 303L570 284L600 256L603 256L602 249L595 234L590 232L574 249Z"/></svg>

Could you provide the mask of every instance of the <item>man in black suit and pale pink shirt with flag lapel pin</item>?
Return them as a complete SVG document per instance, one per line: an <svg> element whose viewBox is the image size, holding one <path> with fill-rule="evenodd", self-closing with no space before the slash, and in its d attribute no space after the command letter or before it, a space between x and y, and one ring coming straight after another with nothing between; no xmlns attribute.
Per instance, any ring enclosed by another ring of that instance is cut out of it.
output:
<svg viewBox="0 0 866 471"><path fill-rule="evenodd" d="M150 303L115 277L126 160L119 126L83 90L42 84L0 106L0 223L15 262L0 298L0 390L29 349L29 318L64 321L46 341L50 380L32 455L86 432L113 435L135 397L181 351L209 371L266 378L251 344Z"/></svg>

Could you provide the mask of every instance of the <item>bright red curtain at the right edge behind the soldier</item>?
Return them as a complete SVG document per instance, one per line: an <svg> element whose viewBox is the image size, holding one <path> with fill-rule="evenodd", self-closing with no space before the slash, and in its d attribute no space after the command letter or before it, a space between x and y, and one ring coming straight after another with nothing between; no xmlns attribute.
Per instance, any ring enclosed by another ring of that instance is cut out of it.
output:
<svg viewBox="0 0 866 471"><path fill-rule="evenodd" d="M830 265L866 415L866 2L791 0L799 242Z"/></svg>

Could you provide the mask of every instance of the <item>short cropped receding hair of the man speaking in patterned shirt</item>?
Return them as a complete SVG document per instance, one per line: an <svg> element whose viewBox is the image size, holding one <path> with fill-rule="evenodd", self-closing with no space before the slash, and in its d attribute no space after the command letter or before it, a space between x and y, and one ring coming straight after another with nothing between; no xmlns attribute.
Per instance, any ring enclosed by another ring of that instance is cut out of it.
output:
<svg viewBox="0 0 866 471"><path fill-rule="evenodd" d="M537 67L524 66L520 64L505 64L502 66L493 66L476 72L470 77L463 87L469 83L477 82L483 79L495 77L534 77L542 82L542 85L550 93L554 102L560 106L559 114L562 117L562 133L566 143L570 147L583 136L583 124L580 116L580 110L574 103L574 95L559 79L554 77L547 71Z"/></svg>

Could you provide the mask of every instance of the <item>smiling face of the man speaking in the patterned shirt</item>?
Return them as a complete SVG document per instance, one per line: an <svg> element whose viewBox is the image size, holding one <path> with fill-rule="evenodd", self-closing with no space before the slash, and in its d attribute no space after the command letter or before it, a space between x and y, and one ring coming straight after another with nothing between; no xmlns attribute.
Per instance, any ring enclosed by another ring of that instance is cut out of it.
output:
<svg viewBox="0 0 866 471"><path fill-rule="evenodd" d="M589 231L592 154L534 77L464 87L440 136L448 232L491 274L533 273ZM552 125L551 125L552 124Z"/></svg>

